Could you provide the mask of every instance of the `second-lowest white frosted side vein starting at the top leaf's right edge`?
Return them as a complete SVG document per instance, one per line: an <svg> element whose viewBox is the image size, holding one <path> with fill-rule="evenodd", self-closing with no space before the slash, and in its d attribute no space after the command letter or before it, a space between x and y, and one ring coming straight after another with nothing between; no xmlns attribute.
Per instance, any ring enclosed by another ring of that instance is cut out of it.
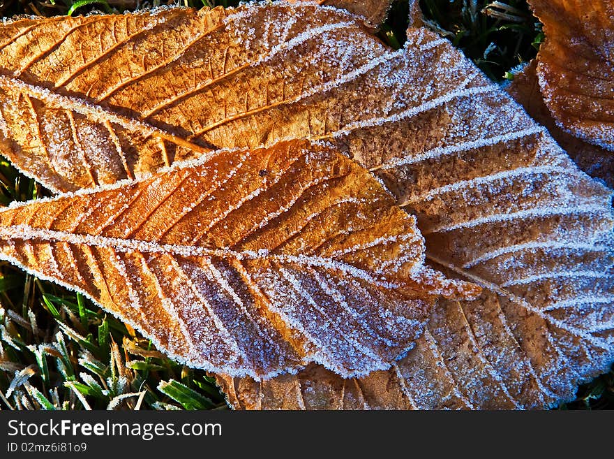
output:
<svg viewBox="0 0 614 459"><path fill-rule="evenodd" d="M477 189L477 187L490 184L492 182L505 181L514 179L516 177L523 177L527 175L540 175L540 174L561 174L561 175L576 175L580 176L578 170L573 168L563 168L560 166L530 166L525 168L516 168L512 170L504 170L502 172L494 173L491 175L484 175L483 177L475 177L469 180L459 180L451 184L444 185L430 189L424 194L412 197L408 199L403 205L409 205L413 203L419 203L424 201L430 201L436 196L442 194L451 193L452 191L461 191L466 189Z"/></svg>

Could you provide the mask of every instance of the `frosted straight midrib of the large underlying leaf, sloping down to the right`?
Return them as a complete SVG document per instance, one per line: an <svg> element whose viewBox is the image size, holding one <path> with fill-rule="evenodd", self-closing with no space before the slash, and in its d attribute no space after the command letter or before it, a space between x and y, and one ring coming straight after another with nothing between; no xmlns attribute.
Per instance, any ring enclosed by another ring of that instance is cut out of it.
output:
<svg viewBox="0 0 614 459"><path fill-rule="evenodd" d="M541 309L534 307L532 304L528 303L524 298L521 298L518 295L515 295L514 293L511 293L510 291L507 291L506 289L504 289L501 286L498 286L497 284L493 284L493 282L488 282L486 279L483 279L482 277L479 277L477 275L472 274L472 272L468 272L466 270L463 270L461 268L457 268L455 265L451 264L451 263L447 263L446 261L443 261L441 258L437 258L436 256L427 254L426 255L427 258L429 258L432 261L435 261L435 263L439 263L442 266L445 266L446 268L448 268L449 270L452 270L454 272L458 272L458 274L467 277L467 279L470 279L472 282L484 286L486 289L489 289L495 293L498 293L500 296L507 298L508 300L510 300L512 303L523 307L524 309L526 309L529 312L532 312L534 314L536 314L537 316L541 317L541 319L544 319L546 322L551 323L552 325L556 326L557 328L560 328L562 330L567 331L568 333L570 333L571 335L577 336L577 337L581 337L584 340L586 340L587 342L590 342L592 344L594 344L597 347L600 347L601 349L609 349L609 344L606 340L599 338L599 337L594 337L593 335L591 335L590 333L586 333L584 330L581 330L579 328L576 328L574 326L569 325L568 323L565 323L564 321L560 320L560 319L556 319L555 317L551 316L550 314L546 314L544 311L542 311ZM604 276L604 273L601 273L601 277ZM555 345L555 342L552 342L553 347L557 348ZM560 351L559 351L560 352ZM564 354L562 354L562 352L560 352L561 356L564 356Z"/></svg>

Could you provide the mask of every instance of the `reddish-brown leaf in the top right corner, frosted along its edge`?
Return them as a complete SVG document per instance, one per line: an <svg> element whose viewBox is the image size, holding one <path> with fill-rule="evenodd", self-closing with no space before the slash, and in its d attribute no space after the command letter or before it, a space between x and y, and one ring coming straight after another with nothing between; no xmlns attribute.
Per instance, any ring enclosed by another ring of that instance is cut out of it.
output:
<svg viewBox="0 0 614 459"><path fill-rule="evenodd" d="M529 3L544 24L537 76L557 125L614 150L614 1Z"/></svg>

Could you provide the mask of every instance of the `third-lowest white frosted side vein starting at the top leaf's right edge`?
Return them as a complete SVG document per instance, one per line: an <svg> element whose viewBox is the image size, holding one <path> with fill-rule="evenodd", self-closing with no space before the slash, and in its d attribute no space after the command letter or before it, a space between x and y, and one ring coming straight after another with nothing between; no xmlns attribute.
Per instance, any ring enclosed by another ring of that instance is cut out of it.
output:
<svg viewBox="0 0 614 459"><path fill-rule="evenodd" d="M545 130L541 126L533 126L521 131L508 132L500 134L498 136L491 136L480 138L478 140L468 140L461 143L455 143L454 145L448 145L447 147L435 147L431 150L427 150L424 153L410 155L403 154L400 157L393 159L387 163L372 168L371 170L378 169L392 169L398 166L410 166L411 164L421 163L422 161L428 161L429 159L437 159L442 156L448 156L454 153L466 152L468 150L474 150L476 148L488 147L497 145L499 143L509 142L511 140L518 140L534 134L544 133Z"/></svg>

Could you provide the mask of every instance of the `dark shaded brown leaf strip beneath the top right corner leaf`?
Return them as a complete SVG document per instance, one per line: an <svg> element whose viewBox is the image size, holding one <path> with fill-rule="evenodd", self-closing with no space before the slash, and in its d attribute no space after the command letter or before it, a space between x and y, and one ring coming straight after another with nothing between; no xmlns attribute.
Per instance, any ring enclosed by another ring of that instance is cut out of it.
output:
<svg viewBox="0 0 614 459"><path fill-rule="evenodd" d="M567 151L579 168L592 177L604 180L609 187L614 188L614 154L571 136L556 125L541 96L536 68L537 61L532 60L523 71L514 75L507 92L516 102L523 105L533 119L548 128L551 136Z"/></svg>

